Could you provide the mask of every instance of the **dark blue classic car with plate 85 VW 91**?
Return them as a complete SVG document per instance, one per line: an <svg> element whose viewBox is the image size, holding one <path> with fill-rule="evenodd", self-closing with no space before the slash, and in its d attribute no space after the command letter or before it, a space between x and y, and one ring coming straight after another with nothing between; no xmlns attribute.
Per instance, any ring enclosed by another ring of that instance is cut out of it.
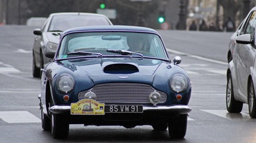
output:
<svg viewBox="0 0 256 143"><path fill-rule="evenodd" d="M190 79L161 36L136 26L86 26L61 34L41 76L43 130L67 138L70 124L150 125L184 138Z"/></svg>

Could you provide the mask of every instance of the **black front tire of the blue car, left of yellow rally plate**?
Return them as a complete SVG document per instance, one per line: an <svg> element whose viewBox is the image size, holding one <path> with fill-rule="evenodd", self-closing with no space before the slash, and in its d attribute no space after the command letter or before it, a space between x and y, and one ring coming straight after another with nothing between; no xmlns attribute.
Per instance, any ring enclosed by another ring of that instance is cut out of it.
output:
<svg viewBox="0 0 256 143"><path fill-rule="evenodd" d="M51 113L51 134L53 138L68 138L69 130L70 124L65 115Z"/></svg>

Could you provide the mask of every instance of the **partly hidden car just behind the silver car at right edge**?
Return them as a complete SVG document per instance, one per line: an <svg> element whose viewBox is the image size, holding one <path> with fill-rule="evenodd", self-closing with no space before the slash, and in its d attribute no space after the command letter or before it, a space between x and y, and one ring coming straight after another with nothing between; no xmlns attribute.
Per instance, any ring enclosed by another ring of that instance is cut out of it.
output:
<svg viewBox="0 0 256 143"><path fill-rule="evenodd" d="M243 21L240 23L234 34L230 37L230 43L228 45L228 62L233 59L234 54L234 46L236 46L236 37L240 35L240 31L242 28Z"/></svg>

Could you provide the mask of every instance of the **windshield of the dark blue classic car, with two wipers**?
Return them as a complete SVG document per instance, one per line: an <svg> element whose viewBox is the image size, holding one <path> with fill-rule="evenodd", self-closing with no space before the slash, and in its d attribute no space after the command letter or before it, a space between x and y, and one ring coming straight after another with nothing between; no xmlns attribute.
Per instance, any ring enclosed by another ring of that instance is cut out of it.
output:
<svg viewBox="0 0 256 143"><path fill-rule="evenodd" d="M57 58L91 55L139 55L167 59L159 36L138 32L84 32L61 41Z"/></svg>

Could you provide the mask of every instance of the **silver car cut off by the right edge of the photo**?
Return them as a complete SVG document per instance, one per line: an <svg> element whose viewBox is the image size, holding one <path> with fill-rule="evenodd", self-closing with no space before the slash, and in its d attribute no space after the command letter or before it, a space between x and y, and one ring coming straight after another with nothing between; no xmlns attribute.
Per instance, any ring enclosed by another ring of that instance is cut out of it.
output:
<svg viewBox="0 0 256 143"><path fill-rule="evenodd" d="M256 7L251 9L240 35L236 38L233 59L228 64L226 108L230 113L240 113L243 103L249 105L249 115L256 117Z"/></svg>

